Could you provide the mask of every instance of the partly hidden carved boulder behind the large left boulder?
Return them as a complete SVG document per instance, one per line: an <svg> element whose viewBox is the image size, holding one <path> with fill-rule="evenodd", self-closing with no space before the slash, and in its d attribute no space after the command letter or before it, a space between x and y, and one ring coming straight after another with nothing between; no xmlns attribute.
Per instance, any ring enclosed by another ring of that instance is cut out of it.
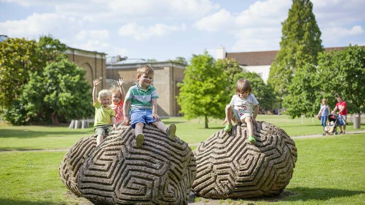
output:
<svg viewBox="0 0 365 205"><path fill-rule="evenodd" d="M77 188L78 171L95 147L96 137L84 137L78 140L65 154L59 166L59 176L62 182L76 196L81 196Z"/></svg>

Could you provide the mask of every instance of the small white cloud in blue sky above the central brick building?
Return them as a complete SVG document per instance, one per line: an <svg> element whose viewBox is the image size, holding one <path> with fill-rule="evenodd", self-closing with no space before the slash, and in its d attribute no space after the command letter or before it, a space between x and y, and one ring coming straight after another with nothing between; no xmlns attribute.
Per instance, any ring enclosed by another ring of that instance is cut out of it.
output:
<svg viewBox="0 0 365 205"><path fill-rule="evenodd" d="M163 36L170 34L172 31L183 31L186 26L168 26L162 23L149 26L139 26L136 23L129 23L119 28L118 34L122 36L131 36L136 40L148 39L151 36Z"/></svg>

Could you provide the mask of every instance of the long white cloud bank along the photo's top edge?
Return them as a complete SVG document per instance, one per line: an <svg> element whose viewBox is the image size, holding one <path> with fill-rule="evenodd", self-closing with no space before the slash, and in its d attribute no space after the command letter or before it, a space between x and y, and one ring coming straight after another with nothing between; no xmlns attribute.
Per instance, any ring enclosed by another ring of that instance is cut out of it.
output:
<svg viewBox="0 0 365 205"><path fill-rule="evenodd" d="M2 0L22 6L47 5L55 13L93 22L127 22L154 18L195 19L219 8L210 0Z"/></svg>

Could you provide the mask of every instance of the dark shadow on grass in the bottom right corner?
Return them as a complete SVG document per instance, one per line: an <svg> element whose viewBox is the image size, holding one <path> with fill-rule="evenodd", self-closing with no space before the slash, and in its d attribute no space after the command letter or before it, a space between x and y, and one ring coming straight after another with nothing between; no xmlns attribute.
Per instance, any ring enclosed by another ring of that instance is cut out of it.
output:
<svg viewBox="0 0 365 205"><path fill-rule="evenodd" d="M293 202L293 201L309 201L309 200L329 200L331 198L338 197L350 197L357 194L363 194L365 191L362 190L345 190L338 188L287 188L286 190L293 194L288 197L279 199L279 201Z"/></svg>

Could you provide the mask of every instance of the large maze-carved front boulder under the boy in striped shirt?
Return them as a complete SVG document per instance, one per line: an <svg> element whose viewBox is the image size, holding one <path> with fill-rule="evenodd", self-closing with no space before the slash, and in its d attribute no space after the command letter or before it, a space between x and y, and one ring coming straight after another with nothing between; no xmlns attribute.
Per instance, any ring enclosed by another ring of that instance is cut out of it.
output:
<svg viewBox="0 0 365 205"><path fill-rule="evenodd" d="M76 190L95 205L187 204L196 175L191 149L178 137L170 140L155 126L145 126L144 134L142 148L136 149L130 126L110 133L73 170L77 171ZM71 167L61 163L60 173Z"/></svg>

